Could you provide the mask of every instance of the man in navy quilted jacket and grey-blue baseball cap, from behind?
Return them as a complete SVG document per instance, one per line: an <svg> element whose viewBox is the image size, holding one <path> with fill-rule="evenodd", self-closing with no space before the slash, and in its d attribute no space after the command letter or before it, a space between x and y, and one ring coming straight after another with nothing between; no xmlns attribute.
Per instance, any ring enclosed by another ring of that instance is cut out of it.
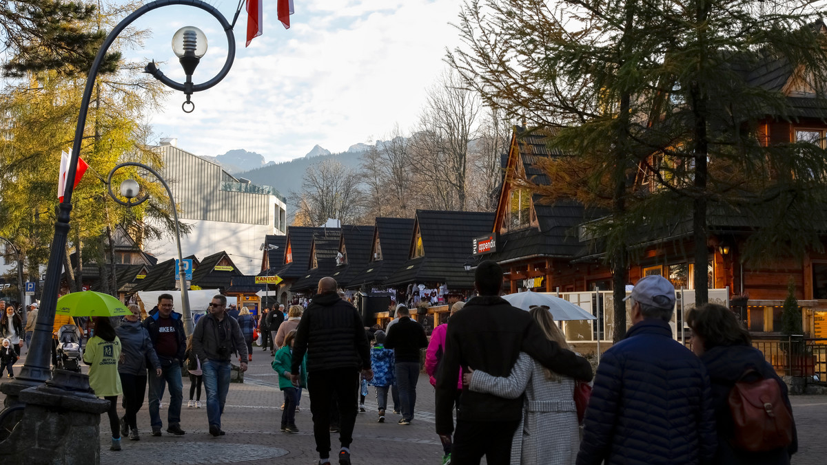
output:
<svg viewBox="0 0 827 465"><path fill-rule="evenodd" d="M710 377L672 338L675 287L647 276L626 299L633 326L600 359L577 465L709 463L717 446Z"/></svg>

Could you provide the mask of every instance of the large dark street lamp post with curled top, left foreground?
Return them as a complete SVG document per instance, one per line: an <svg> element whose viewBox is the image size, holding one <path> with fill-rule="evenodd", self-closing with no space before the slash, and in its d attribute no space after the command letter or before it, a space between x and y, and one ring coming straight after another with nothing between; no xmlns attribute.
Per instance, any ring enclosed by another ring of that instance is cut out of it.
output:
<svg viewBox="0 0 827 465"><path fill-rule="evenodd" d="M194 92L212 88L227 75L232 67L232 62L236 55L236 40L232 33L232 25L227 21L227 18L225 18L222 13L218 11L218 9L206 2L203 2L202 0L157 0L155 2L146 3L120 21L117 26L112 29L106 39L103 40L103 44L98 50L98 55L95 56L92 67L89 69L88 77L86 78L86 86L84 88L84 95L80 102L78 125L74 130L74 142L72 145L71 160L69 161L69 171L66 173L66 187L63 202L60 202L58 206L57 221L55 221L55 235L52 239L49 263L46 267L45 286L43 289L43 297L41 299L41 311L38 312L35 330L31 337L31 346L29 348L29 352L26 354L26 363L23 365L20 374L14 379L14 381L3 383L2 386L0 386L0 391L5 392L7 395L7 405L17 402L17 396L20 391L26 389L26 387L40 386L43 382L49 380L52 374L50 372L51 334L52 326L55 322L57 297L60 292L60 270L63 256L65 254L66 239L69 235L69 216L72 210L74 178L77 173L80 144L84 137L84 127L86 126L89 101L92 97L95 78L98 76L98 69L103 62L103 57L106 55L109 47L112 46L112 43L115 41L117 36L138 17L141 17L147 12L151 12L160 7L174 5L200 8L201 10L213 15L213 17L218 20L227 35L227 60L225 61L221 71L219 71L218 74L212 79L205 83L192 83L194 63L197 64L198 52L201 51L198 45L198 31L190 30L191 33L189 35L185 34L186 31L179 31L181 32L180 45L182 51L182 54L179 56L181 57L182 64L184 65L184 71L188 74L187 82L177 83L172 79L167 78L160 72L159 69L156 68L155 62L146 65L146 73L152 74L153 77L160 80L166 86L184 92L187 96L187 101L184 102L184 111L192 112L194 105L192 102L189 102L190 95ZM238 17L238 12L236 12L236 17ZM186 36L186 39L184 39L184 36ZM201 37L203 37L203 33ZM206 49L206 47L203 48ZM177 47L175 48L175 52L176 55L179 52ZM184 59L184 57L186 58ZM188 102L189 109L186 107ZM85 391L88 390L88 378L79 376L74 372L55 370L54 377L50 380L50 386L58 387L67 391Z"/></svg>

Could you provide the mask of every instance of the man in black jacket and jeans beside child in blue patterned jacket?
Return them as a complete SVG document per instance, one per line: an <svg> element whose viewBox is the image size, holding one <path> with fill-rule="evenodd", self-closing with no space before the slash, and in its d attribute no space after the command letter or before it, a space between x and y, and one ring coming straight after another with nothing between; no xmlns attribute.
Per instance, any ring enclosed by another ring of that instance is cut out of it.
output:
<svg viewBox="0 0 827 465"><path fill-rule="evenodd" d="M414 420L416 405L419 355L423 347L428 347L428 336L422 325L411 320L408 307L400 306L396 314L399 321L388 330L385 348L394 349L396 383L399 387L399 402L402 404L399 425L410 425L411 420Z"/></svg>

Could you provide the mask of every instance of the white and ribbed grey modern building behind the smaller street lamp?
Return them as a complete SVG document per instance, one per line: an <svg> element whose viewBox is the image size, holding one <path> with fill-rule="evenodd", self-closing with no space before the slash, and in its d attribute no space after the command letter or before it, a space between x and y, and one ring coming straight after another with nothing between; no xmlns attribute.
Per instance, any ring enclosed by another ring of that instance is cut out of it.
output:
<svg viewBox="0 0 827 465"><path fill-rule="evenodd" d="M256 274L265 235L284 235L287 229L284 197L273 187L235 178L219 164L179 149L174 139L162 140L157 149L179 219L192 227L181 237L183 256L201 259L224 250L241 273ZM159 260L177 254L174 240L147 241L143 249Z"/></svg>

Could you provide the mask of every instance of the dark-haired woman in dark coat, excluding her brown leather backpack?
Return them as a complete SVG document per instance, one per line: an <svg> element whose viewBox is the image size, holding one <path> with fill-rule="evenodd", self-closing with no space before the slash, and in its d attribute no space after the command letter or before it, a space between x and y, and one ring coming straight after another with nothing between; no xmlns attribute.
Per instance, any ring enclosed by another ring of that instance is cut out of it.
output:
<svg viewBox="0 0 827 465"><path fill-rule="evenodd" d="M712 384L715 406L715 429L718 432L718 453L715 463L726 465L786 465L798 450L796 425L792 425L792 443L786 448L768 452L749 452L732 444L734 422L729 411L729 392L748 369L757 371L764 379L774 379L781 388L786 407L792 412L786 384L767 363L763 353L751 343L749 332L725 306L706 304L693 308L686 316L692 330L692 351L704 362Z"/></svg>

